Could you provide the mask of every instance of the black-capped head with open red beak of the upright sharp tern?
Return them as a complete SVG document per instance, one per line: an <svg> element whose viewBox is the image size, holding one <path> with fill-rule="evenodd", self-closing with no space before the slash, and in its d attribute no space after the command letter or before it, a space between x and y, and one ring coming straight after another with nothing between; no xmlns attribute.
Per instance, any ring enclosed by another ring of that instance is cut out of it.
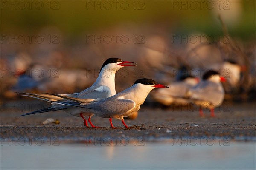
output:
<svg viewBox="0 0 256 170"><path fill-rule="evenodd" d="M100 71L102 69L109 69L109 70L117 71L120 68L122 68L123 66L135 66L135 65L127 64L127 63L135 64L135 62L122 61L122 59L119 59L119 58L109 58L103 63Z"/></svg>

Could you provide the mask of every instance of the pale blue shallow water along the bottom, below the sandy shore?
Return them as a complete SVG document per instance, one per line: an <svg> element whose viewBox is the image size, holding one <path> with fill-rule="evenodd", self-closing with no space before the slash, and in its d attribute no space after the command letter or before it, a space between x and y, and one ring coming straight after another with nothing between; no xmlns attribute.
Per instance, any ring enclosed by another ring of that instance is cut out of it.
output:
<svg viewBox="0 0 256 170"><path fill-rule="evenodd" d="M2 141L0 169L256 169L256 142Z"/></svg>

